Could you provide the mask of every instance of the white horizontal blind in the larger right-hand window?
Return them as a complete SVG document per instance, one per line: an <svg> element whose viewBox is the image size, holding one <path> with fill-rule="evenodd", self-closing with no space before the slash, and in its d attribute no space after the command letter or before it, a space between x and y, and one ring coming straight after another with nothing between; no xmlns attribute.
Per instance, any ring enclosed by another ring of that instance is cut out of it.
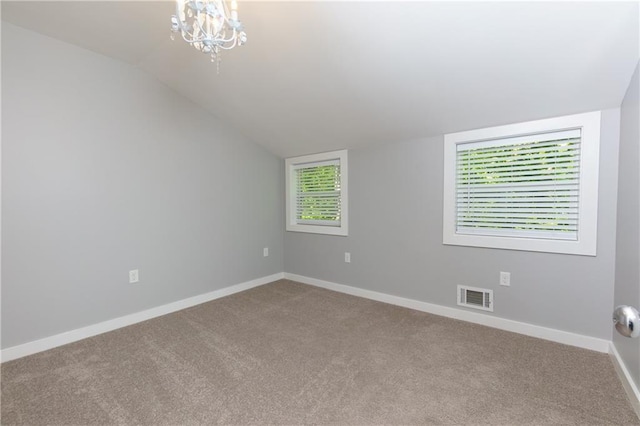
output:
<svg viewBox="0 0 640 426"><path fill-rule="evenodd" d="M457 144L456 233L577 240L581 130Z"/></svg>

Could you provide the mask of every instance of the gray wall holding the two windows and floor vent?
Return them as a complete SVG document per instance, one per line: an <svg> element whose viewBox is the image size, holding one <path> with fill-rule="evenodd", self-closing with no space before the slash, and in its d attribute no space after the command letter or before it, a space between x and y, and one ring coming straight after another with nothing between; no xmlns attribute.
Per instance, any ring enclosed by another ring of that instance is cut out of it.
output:
<svg viewBox="0 0 640 426"><path fill-rule="evenodd" d="M618 134L619 109L603 111L597 257L443 245L434 137L350 151L349 236L286 232L285 271L452 307L456 285L489 288L489 315L610 340Z"/></svg>

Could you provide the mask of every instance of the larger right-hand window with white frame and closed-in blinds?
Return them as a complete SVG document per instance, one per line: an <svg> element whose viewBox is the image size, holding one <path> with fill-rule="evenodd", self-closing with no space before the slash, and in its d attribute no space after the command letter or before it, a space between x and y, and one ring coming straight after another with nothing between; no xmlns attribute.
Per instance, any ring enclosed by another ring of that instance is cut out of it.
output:
<svg viewBox="0 0 640 426"><path fill-rule="evenodd" d="M600 112L445 135L443 243L596 255Z"/></svg>

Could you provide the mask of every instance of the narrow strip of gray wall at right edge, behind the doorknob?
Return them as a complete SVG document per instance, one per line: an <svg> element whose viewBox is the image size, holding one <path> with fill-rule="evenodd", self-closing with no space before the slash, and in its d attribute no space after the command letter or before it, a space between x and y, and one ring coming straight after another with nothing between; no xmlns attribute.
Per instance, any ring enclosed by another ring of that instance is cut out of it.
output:
<svg viewBox="0 0 640 426"><path fill-rule="evenodd" d="M640 66L640 65L638 65ZM638 66L620 109L618 235L614 302L640 309L640 108ZM613 308L613 307L612 307ZM640 339L614 333L613 343L640 387Z"/></svg>

